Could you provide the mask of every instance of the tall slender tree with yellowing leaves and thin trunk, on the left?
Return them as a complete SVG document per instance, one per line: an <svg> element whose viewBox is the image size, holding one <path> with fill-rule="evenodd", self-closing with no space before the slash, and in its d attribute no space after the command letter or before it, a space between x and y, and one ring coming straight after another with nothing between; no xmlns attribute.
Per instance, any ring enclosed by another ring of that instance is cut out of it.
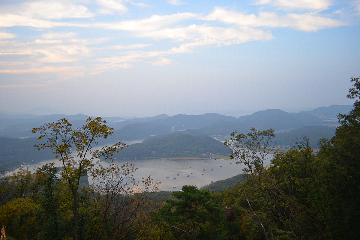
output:
<svg viewBox="0 0 360 240"><path fill-rule="evenodd" d="M62 178L67 183L68 189L73 197L73 219L74 236L78 240L78 203L80 178L87 173L93 172L95 166L101 159L112 160L111 157L119 149L126 146L118 142L112 146L102 147L94 150L99 138L106 139L113 134L113 128L107 127L100 117L86 120L84 126L73 129L72 124L65 118L57 122L47 123L40 127L33 128L32 132L40 132L39 140L45 142L35 145L37 149L50 148L54 150L55 158L63 164Z"/></svg>

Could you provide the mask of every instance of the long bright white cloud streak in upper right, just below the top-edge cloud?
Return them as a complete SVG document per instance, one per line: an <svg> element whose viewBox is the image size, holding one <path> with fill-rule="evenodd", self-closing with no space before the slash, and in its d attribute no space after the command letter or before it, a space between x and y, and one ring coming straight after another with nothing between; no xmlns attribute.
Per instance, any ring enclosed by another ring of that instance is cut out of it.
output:
<svg viewBox="0 0 360 240"><path fill-rule="evenodd" d="M255 14L229 11L221 7L215 7L203 19L208 21L219 20L228 24L248 27L291 27L306 32L345 25L345 23L336 19L321 17L311 12L304 14L288 13L285 15L278 15L274 12L260 12L257 16Z"/></svg>

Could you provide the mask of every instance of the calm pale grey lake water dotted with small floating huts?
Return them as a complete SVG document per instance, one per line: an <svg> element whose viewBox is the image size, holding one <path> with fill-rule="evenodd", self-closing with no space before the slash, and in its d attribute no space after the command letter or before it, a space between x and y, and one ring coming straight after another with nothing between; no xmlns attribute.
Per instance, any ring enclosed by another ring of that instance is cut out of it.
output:
<svg viewBox="0 0 360 240"><path fill-rule="evenodd" d="M139 140L134 141L139 142ZM132 144L134 142L126 142ZM151 176L153 181L161 182L159 189L162 191L180 190L183 185L195 185L202 187L211 184L211 181L223 180L229 177L233 177L242 173L244 165L235 164L230 159L176 159L168 160L161 158L138 158L138 159L114 159L113 162L102 162L104 167L110 164L117 164L121 166L123 163L135 163L135 167L138 168L133 176L136 181L141 181L141 178L147 178ZM35 172L33 167L41 167L46 163L54 163L55 166L61 167L62 162L56 159L49 159L44 161L26 162L23 164L23 168L29 168L29 171ZM270 159L266 163L270 163ZM221 167L220 167L221 166ZM191 168L190 168L191 167ZM205 169L205 170L203 170ZM213 169L213 170L211 170ZM193 172L193 174L191 174ZM7 174L12 174L8 172ZM202 175L202 173L204 173ZM179 175L177 175L179 174ZM189 177L187 176L189 175ZM166 178L169 177L169 178ZM174 179L176 177L176 179ZM89 177L90 184L94 183Z"/></svg>

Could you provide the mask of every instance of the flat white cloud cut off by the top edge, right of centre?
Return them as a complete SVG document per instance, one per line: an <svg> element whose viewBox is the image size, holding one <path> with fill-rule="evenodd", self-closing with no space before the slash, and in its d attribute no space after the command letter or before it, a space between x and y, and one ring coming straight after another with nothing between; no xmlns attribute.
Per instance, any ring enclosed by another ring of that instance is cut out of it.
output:
<svg viewBox="0 0 360 240"><path fill-rule="evenodd" d="M257 5L270 4L287 9L325 10L332 5L331 0L259 0Z"/></svg>

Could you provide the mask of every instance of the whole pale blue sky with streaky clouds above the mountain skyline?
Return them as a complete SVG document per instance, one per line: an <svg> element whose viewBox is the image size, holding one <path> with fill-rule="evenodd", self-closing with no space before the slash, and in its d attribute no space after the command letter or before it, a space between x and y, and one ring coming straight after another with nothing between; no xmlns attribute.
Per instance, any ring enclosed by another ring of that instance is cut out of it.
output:
<svg viewBox="0 0 360 240"><path fill-rule="evenodd" d="M1 0L0 111L298 112L360 75L360 0Z"/></svg>

